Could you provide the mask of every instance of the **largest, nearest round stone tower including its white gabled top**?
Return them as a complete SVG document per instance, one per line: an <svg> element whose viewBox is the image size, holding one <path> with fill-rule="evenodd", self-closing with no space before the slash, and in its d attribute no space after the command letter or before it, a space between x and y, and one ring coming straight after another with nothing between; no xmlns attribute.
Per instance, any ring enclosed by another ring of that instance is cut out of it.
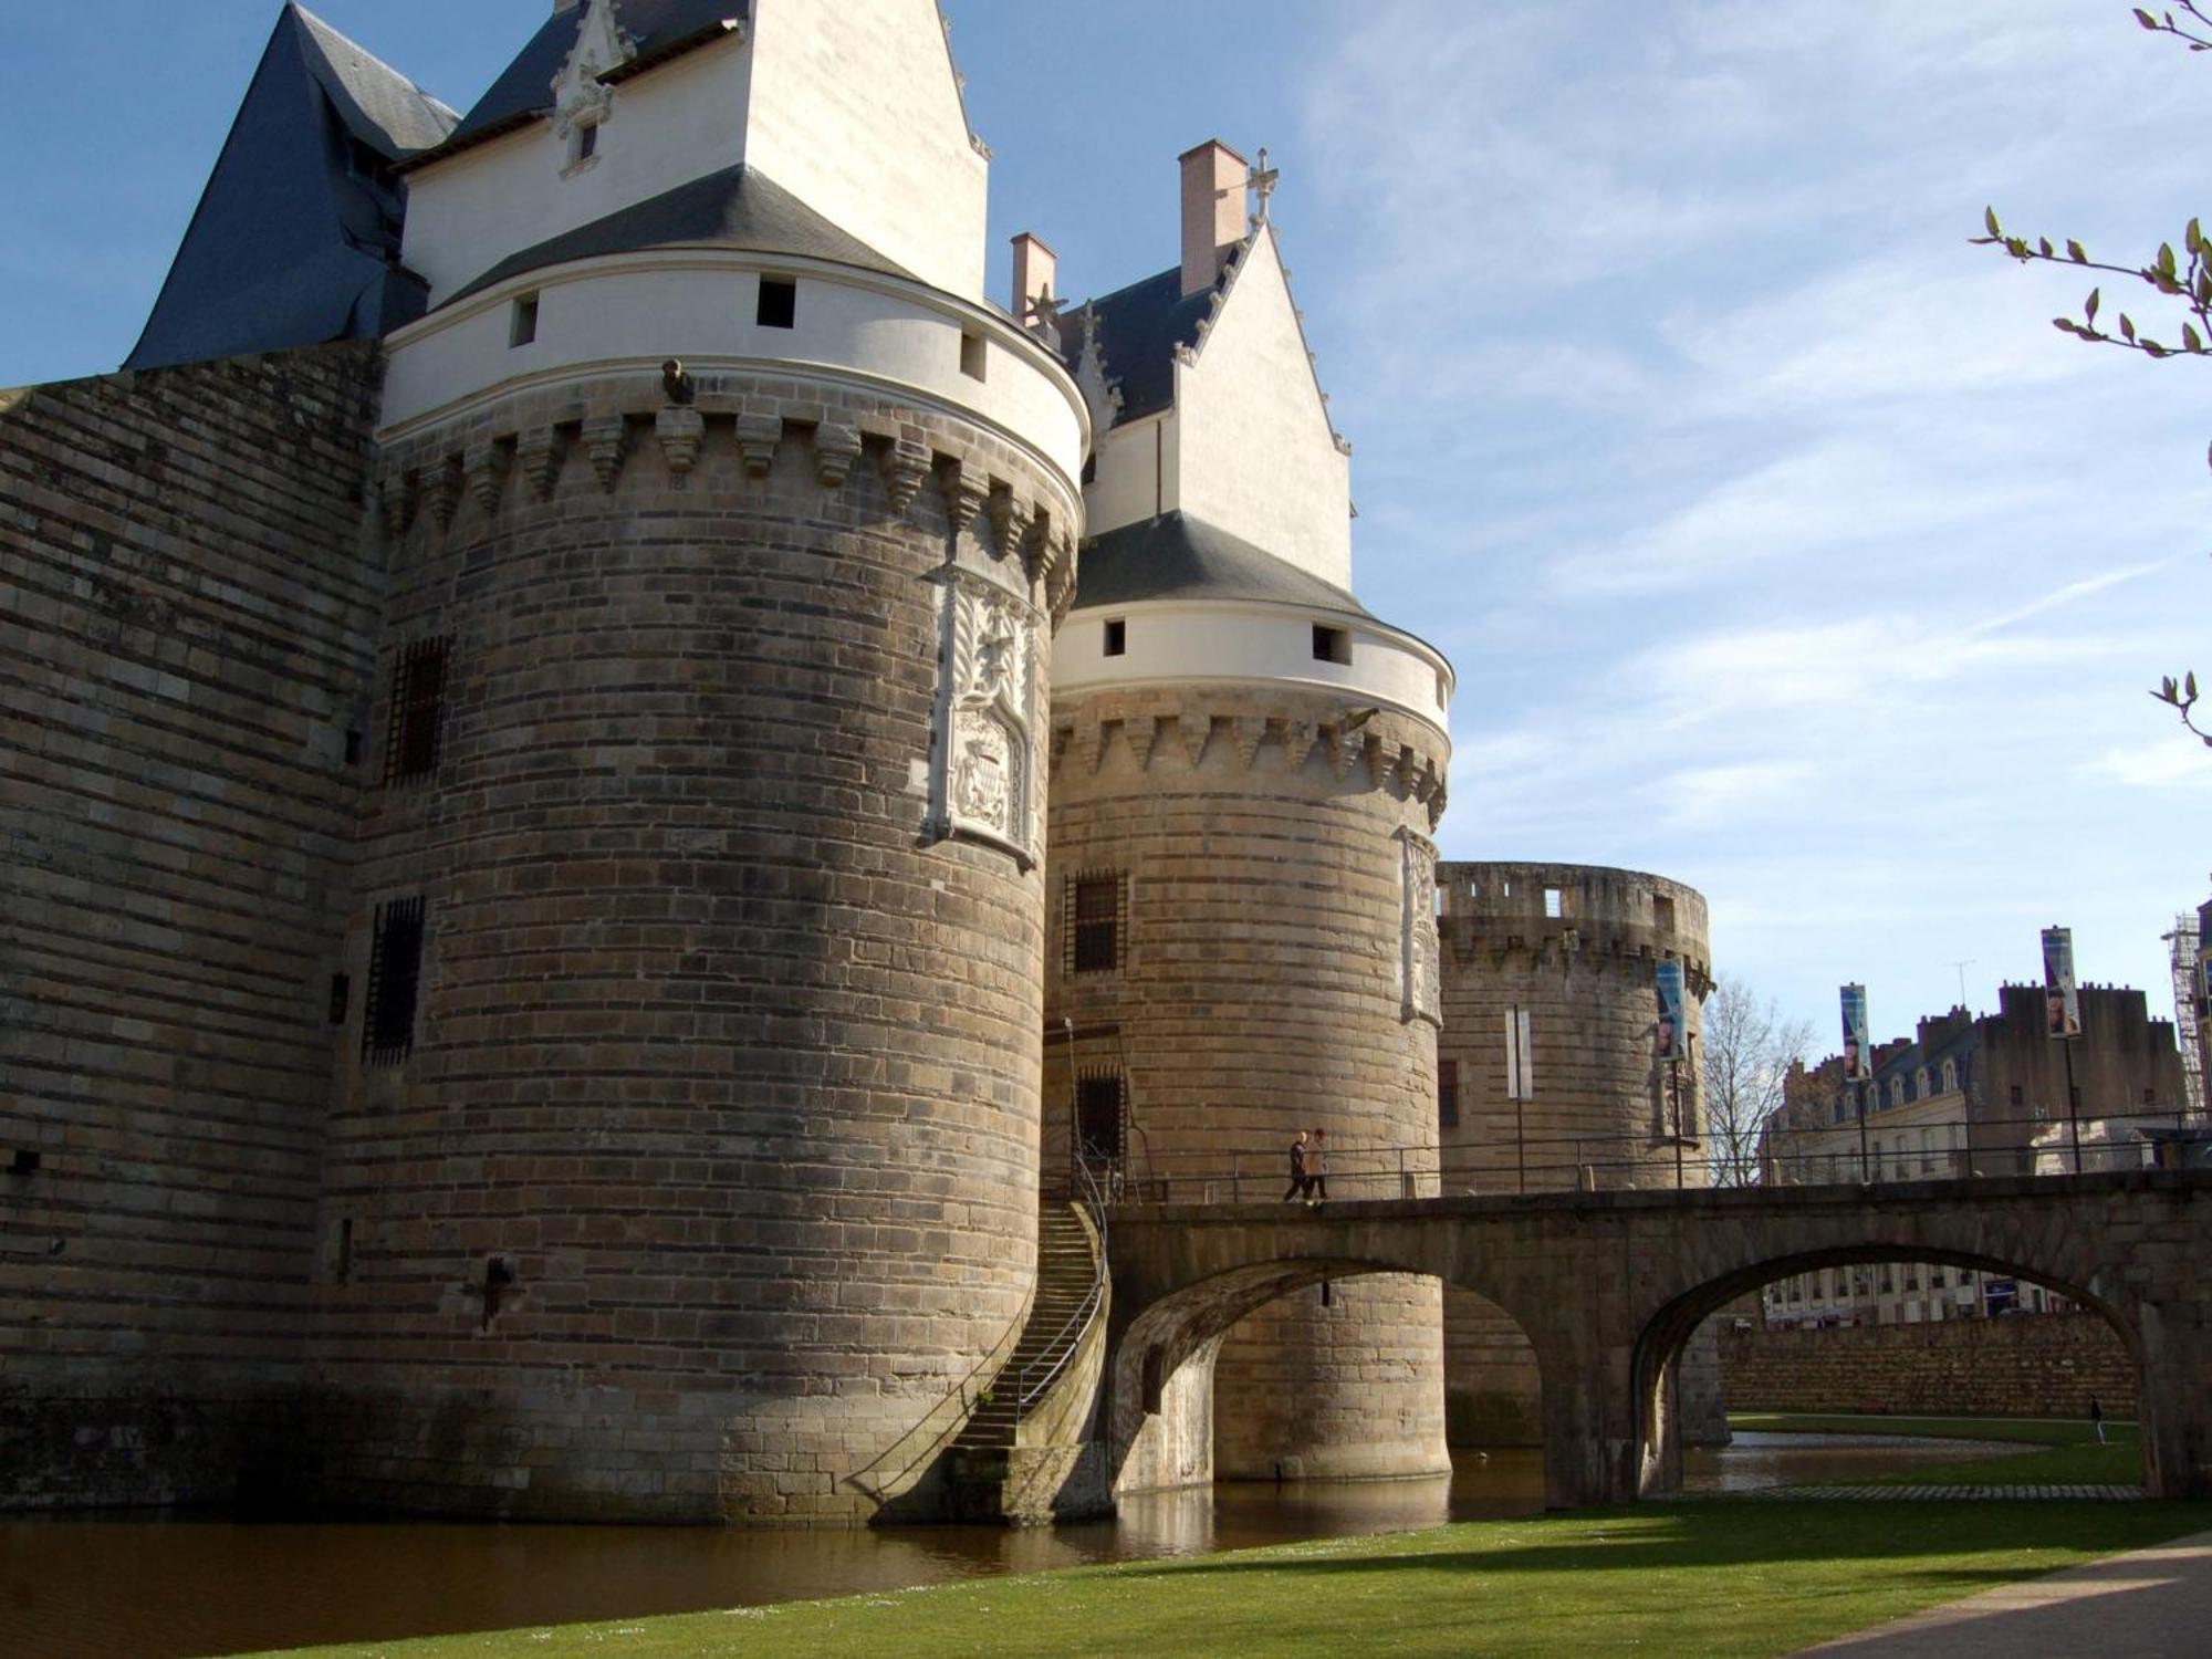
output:
<svg viewBox="0 0 2212 1659"><path fill-rule="evenodd" d="M695 11L557 13L575 106L471 113L416 175L323 1206L336 1498L860 1520L1033 1294L1086 411L980 301L933 7ZM584 223L498 243L509 197Z"/></svg>

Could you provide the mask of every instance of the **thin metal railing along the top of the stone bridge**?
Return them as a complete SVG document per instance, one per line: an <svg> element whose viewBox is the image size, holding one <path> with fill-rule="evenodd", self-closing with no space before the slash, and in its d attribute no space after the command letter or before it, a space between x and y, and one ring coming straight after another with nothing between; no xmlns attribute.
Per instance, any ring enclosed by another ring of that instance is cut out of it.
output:
<svg viewBox="0 0 2212 1659"><path fill-rule="evenodd" d="M2073 1128L2081 1130L2075 1141ZM2110 1126L2112 1135L2101 1130ZM1920 1130L1942 1139L1922 1148ZM2137 1130L2157 1130L2161 1146ZM1889 1144L1893 1137L1911 1137ZM2192 1139L2194 1137L2194 1139ZM1349 1137L1347 1137L1349 1139ZM1960 1144L1962 1141L1962 1144ZM1761 1146L1657 1133L1469 1137L1425 1146L1332 1146L1321 1177L1329 1201L1511 1197L1721 1186L1896 1186L1907 1181L2095 1175L2137 1168L2212 1168L2203 1117L2141 1108L2068 1124L2051 1117L1975 1117L1960 1124L1823 1124L1770 1130ZM1086 1170L1088 1175L1088 1170ZM1290 1197L1285 1146L1155 1150L1141 1177L1110 1168L1093 1181L1099 1203L1263 1203Z"/></svg>

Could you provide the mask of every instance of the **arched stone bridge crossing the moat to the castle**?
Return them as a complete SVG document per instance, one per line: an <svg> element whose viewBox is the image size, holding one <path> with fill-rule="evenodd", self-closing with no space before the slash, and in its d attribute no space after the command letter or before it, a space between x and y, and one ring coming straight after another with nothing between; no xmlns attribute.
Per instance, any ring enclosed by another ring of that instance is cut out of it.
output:
<svg viewBox="0 0 2212 1659"><path fill-rule="evenodd" d="M2143 1480L2212 1495L2212 1172L1559 1192L1110 1212L1115 1491L1212 1478L1212 1360L1276 1296L1367 1272L1486 1296L1535 1347L1553 1509L1674 1491L1674 1360L1787 1274L1933 1261L2031 1279L2112 1323L2141 1376ZM2084 1402L2086 1411L2086 1402Z"/></svg>

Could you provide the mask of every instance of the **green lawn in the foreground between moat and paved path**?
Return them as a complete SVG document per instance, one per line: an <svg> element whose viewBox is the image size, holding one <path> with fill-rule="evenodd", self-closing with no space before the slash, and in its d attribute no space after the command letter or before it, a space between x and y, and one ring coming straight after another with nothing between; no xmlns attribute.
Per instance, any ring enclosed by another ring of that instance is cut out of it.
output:
<svg viewBox="0 0 2212 1659"><path fill-rule="evenodd" d="M1641 1504L323 1659L1783 1655L2212 1526L2205 1504Z"/></svg>

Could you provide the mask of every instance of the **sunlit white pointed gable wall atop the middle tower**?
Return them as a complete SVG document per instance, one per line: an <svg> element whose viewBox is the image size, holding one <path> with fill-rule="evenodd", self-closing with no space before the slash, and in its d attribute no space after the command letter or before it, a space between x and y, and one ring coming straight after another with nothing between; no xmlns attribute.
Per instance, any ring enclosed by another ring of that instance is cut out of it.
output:
<svg viewBox="0 0 2212 1659"><path fill-rule="evenodd" d="M1179 500L1168 507L1352 588L1352 460L1329 429L1272 234L1252 241L1197 363L1177 365L1175 409Z"/></svg>

